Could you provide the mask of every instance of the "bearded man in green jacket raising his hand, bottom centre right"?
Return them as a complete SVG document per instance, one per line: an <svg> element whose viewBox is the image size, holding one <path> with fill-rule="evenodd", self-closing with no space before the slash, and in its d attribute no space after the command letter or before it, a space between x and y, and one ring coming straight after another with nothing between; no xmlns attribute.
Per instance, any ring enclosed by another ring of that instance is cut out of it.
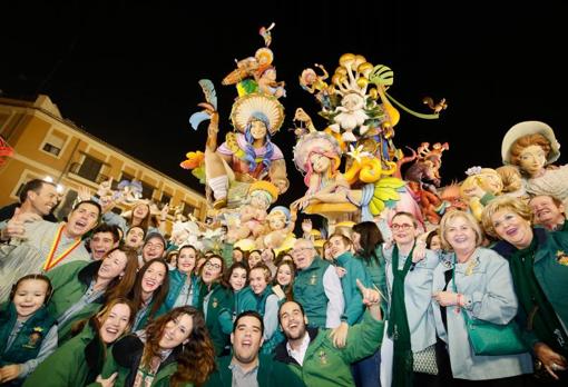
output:
<svg viewBox="0 0 568 387"><path fill-rule="evenodd" d="M371 356L381 346L383 321L380 296L358 280L368 310L361 324L349 328L345 347L333 346L330 330L306 328L304 308L295 301L284 302L278 319L287 340L276 347L275 359L288 365L306 386L354 386L350 365Z"/></svg>

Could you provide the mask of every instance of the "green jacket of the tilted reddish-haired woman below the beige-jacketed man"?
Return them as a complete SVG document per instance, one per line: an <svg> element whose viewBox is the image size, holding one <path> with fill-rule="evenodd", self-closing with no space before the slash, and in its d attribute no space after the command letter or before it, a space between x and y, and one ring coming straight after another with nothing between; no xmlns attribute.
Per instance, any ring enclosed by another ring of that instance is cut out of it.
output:
<svg viewBox="0 0 568 387"><path fill-rule="evenodd" d="M75 261L56 267L47 272L53 286L53 296L48 305L48 310L59 319L70 307L72 307L87 292L91 280L97 275L101 261ZM104 302L99 297L87 305L75 316L58 325L59 345L71 338L71 327L76 321L88 318L96 314Z"/></svg>

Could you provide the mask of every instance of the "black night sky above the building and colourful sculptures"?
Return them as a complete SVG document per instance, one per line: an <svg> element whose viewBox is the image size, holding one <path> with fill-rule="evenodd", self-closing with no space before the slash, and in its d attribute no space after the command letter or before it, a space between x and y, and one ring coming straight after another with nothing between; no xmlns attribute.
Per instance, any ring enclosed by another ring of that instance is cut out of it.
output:
<svg viewBox="0 0 568 387"><path fill-rule="evenodd" d="M50 96L65 118L203 191L178 167L187 151L205 145L205 127L195 132L188 123L203 99L197 81L214 81L224 133L236 90L221 80L235 58L262 46L258 28L275 21L271 48L288 97L281 99L287 119L273 141L288 159L294 110L301 106L312 117L319 110L298 75L314 62L333 72L344 52L391 67L390 93L414 110L428 112L424 96L447 98L439 120L401 111L394 138L398 147L413 148L448 141L444 182L462 179L471 166L500 166L501 139L519 121L542 120L568 143L568 33L560 2L502 9L498 1L456 1L453 8L439 1L226 3L7 1L0 89L12 98ZM316 123L323 128L323 120ZM292 163L288 176L293 189L284 202L304 191Z"/></svg>

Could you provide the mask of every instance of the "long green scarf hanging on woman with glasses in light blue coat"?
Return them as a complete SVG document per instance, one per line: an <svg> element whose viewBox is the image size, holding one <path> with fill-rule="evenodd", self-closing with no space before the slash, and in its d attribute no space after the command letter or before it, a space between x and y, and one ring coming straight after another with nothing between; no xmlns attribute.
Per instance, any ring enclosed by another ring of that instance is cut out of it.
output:
<svg viewBox="0 0 568 387"><path fill-rule="evenodd" d="M404 278L412 265L412 252L414 246L404 262L402 270L399 270L399 247L394 245L392 250L392 275L394 277L391 294L391 310L389 315L389 337L394 343L392 386L412 386L412 346L410 343L409 319L407 306L404 305Z"/></svg>

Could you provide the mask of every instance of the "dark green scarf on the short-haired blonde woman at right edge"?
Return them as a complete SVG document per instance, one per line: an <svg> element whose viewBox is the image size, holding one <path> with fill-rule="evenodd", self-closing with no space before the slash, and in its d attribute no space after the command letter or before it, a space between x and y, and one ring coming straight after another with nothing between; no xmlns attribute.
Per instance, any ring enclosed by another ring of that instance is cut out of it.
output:
<svg viewBox="0 0 568 387"><path fill-rule="evenodd" d="M535 236L529 247L515 251L509 259L517 297L528 316L527 327L525 328L533 330L539 340L549 345L555 351L567 356L568 338L564 334L564 328L555 309L540 288L537 277L535 277L533 265L537 249L538 242Z"/></svg>

